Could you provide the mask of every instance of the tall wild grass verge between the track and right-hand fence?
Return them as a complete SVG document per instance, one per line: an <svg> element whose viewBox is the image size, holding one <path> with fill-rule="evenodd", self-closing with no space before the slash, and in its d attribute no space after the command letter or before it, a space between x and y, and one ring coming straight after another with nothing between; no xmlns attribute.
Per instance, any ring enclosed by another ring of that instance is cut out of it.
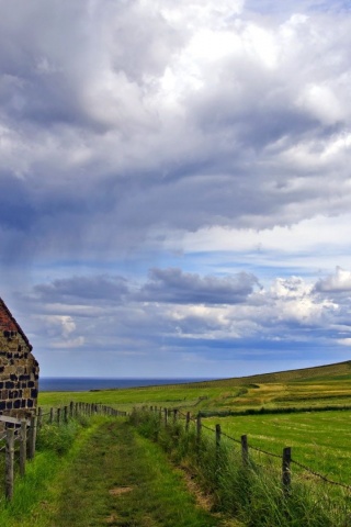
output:
<svg viewBox="0 0 351 527"><path fill-rule="evenodd" d="M281 483L280 460L245 464L240 446L203 430L201 439L194 425L185 430L183 421L168 423L149 411L134 411L131 422L139 434L157 440L178 464L191 471L202 490L211 494L214 511L236 517L250 527L351 526L350 494L319 481L293 476L288 491ZM238 448L239 447L239 448Z"/></svg>

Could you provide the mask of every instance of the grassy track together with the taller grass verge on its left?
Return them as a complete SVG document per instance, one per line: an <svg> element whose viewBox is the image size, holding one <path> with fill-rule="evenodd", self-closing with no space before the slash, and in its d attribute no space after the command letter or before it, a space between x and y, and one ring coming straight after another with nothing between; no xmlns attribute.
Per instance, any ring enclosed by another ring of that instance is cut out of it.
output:
<svg viewBox="0 0 351 527"><path fill-rule="evenodd" d="M79 421L42 428L35 459L26 475L15 480L13 501L0 501L0 525L224 525L196 505L183 473L125 419L94 416L83 419L84 426Z"/></svg>

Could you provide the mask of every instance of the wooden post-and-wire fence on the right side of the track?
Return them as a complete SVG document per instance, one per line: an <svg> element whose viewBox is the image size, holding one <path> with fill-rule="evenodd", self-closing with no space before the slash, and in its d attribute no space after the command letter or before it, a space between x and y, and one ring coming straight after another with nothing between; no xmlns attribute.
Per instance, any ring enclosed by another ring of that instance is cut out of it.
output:
<svg viewBox="0 0 351 527"><path fill-rule="evenodd" d="M282 455L279 456L276 453L263 450L259 447L252 446L248 441L248 436L242 435L240 439L235 438L233 436L229 436L225 431L222 430L222 427L219 424L215 426L215 428L208 427L204 425L202 422L202 416L201 414L197 414L196 417L192 417L190 412L186 412L186 414L183 414L180 412L178 408L157 408L157 406L150 406L149 408L144 408L144 410L149 410L151 413L157 413L159 415L159 421L160 423L163 424L165 427L167 427L170 424L170 419L172 423L177 423L180 419L184 421L184 430L189 431L190 428L190 423L193 423L195 425L195 430L196 430L196 445L200 451L200 446L202 441L202 430L205 429L207 433L212 433L214 437L214 442L215 442L215 451L216 451L216 458L219 458L219 450L220 450L220 444L222 444L222 438L225 437L233 444L240 445L241 449L241 460L242 460L242 466L244 467L249 467L250 464L250 451L256 451L259 453L263 453L270 458L275 458L281 460L281 481L282 481L282 486L284 490L284 493L288 495L291 491L291 484L292 484L292 467L296 466L299 469L308 472L309 475L313 475L314 478L317 478L325 483L339 486L342 489L346 489L347 491L351 491L351 485L347 485L344 483L340 483L337 481L331 480L330 478L327 478L324 474L320 474L319 472L313 470L309 467L306 467L305 464L296 461L293 456L293 449L292 447L284 447L282 450Z"/></svg>

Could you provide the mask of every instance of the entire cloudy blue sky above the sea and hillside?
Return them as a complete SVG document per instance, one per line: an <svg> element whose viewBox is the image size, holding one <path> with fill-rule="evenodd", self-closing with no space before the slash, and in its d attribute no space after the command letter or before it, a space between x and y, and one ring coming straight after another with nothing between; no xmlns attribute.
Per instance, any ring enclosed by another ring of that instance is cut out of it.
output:
<svg viewBox="0 0 351 527"><path fill-rule="evenodd" d="M0 296L41 374L348 360L351 3L0 10Z"/></svg>

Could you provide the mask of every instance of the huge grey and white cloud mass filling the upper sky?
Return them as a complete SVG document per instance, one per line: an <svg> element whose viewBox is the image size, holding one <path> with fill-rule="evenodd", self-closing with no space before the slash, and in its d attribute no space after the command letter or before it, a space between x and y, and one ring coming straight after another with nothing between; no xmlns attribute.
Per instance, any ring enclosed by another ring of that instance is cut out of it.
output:
<svg viewBox="0 0 351 527"><path fill-rule="evenodd" d="M2 255L348 210L348 18L335 32L337 14L291 5L263 23L227 1L15 4L0 2Z"/></svg>

